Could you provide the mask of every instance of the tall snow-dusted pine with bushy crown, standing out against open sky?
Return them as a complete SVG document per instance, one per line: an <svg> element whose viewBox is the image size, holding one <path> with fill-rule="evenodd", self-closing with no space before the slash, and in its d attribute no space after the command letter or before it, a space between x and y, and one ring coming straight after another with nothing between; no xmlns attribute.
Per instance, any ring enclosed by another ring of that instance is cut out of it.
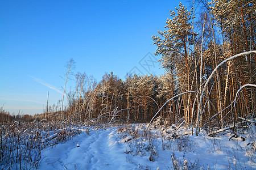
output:
<svg viewBox="0 0 256 170"><path fill-rule="evenodd" d="M181 84L180 92L190 91L191 79L190 66L191 55L189 52L189 45L193 44L193 31L191 18L192 14L187 10L182 3L179 4L179 8L176 7L177 14L174 11L171 12L172 19L167 19L167 30L158 31L159 36L152 36L154 44L158 46L156 49L156 55L161 55L162 66L164 69L176 71L179 76L179 83ZM189 94L183 96L183 111L185 114L185 120L188 124L189 116L192 114L192 107L189 102Z"/></svg>

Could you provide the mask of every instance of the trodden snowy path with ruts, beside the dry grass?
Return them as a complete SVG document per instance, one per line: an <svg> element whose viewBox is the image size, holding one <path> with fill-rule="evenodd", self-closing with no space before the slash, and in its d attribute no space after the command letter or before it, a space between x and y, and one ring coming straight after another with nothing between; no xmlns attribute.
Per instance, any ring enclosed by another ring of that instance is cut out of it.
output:
<svg viewBox="0 0 256 170"><path fill-rule="evenodd" d="M126 162L126 148L118 142L115 129L90 131L43 150L39 169L134 169Z"/></svg>

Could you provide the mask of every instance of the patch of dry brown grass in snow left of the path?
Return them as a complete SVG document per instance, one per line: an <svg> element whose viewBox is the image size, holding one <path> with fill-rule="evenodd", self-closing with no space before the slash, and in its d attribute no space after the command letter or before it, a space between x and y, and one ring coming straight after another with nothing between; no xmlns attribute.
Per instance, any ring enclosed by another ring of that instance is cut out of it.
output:
<svg viewBox="0 0 256 170"><path fill-rule="evenodd" d="M37 168L43 148L66 142L80 133L76 126L56 121L15 121L0 126L1 169Z"/></svg>

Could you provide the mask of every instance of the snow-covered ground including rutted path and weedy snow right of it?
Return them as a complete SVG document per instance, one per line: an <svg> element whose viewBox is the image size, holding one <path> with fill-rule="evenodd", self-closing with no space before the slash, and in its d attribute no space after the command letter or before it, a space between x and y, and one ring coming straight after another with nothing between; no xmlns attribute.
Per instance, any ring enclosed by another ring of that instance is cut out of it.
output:
<svg viewBox="0 0 256 170"><path fill-rule="evenodd" d="M228 132L212 138L203 130L146 127L91 129L44 149L39 169L256 169L249 133L234 141Z"/></svg>

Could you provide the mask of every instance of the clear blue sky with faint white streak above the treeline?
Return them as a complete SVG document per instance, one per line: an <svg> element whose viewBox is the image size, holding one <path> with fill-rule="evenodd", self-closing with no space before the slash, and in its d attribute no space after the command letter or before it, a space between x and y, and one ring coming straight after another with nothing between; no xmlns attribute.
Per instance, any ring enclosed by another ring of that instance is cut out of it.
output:
<svg viewBox="0 0 256 170"><path fill-rule="evenodd" d="M159 65L148 71L139 63L155 52L151 36L179 2L0 1L0 105L15 114L42 113L48 91L49 105L57 103L70 58L75 73L97 81L111 71L122 79L132 69L162 74Z"/></svg>

